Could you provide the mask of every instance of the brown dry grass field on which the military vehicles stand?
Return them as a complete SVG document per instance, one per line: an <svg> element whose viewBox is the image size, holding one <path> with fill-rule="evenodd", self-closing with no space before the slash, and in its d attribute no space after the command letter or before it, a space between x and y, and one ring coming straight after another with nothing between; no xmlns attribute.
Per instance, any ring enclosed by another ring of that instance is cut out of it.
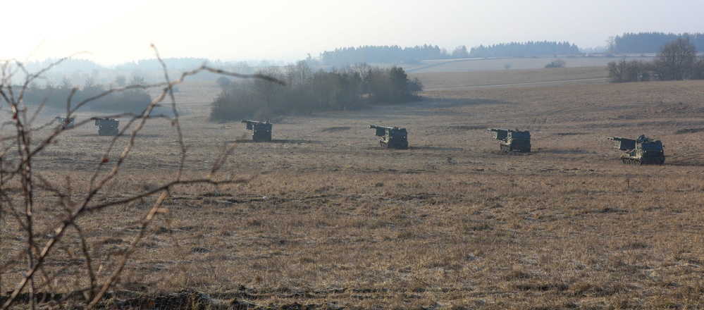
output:
<svg viewBox="0 0 704 310"><path fill-rule="evenodd" d="M704 307L704 81L610 84L603 67L411 77L422 101L278 118L270 143L237 142L244 124L206 120L215 82L180 85L185 175L204 175L238 143L216 178L249 182L175 188L104 306ZM409 149L380 149L369 124L407 128ZM99 199L174 175L170 125L148 123ZM533 153L500 153L488 127L531 130ZM641 134L663 141L664 165L623 165L607 140ZM70 130L35 169L80 196L108 140L92 123ZM37 190L39 240L66 216L57 199ZM98 278L154 199L78 222ZM25 268L24 235L16 218L0 221L8 292ZM89 285L80 247L75 230L64 237L44 268L58 277L40 290Z"/></svg>

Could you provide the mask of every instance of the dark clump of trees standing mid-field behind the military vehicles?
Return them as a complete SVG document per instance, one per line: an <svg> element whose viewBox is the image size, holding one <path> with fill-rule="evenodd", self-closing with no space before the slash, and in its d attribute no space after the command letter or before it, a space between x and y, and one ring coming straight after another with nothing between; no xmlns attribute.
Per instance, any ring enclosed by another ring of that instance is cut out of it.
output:
<svg viewBox="0 0 704 310"><path fill-rule="evenodd" d="M218 79L221 92L213 101L215 121L275 115L302 115L319 111L360 109L372 104L401 104L417 99L423 85L409 80L403 68L373 68L366 63L332 70L312 70L307 61L270 67L257 72L285 82Z"/></svg>

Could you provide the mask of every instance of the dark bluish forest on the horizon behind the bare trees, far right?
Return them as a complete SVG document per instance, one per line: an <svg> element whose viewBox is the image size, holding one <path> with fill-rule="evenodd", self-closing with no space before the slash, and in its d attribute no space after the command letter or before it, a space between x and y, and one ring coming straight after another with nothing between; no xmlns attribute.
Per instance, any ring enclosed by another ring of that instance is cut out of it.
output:
<svg viewBox="0 0 704 310"><path fill-rule="evenodd" d="M660 52L662 46L676 40L678 37L689 37L697 51L704 51L704 35L701 33L674 34L665 32L624 33L607 41L607 52L610 54L645 54Z"/></svg>

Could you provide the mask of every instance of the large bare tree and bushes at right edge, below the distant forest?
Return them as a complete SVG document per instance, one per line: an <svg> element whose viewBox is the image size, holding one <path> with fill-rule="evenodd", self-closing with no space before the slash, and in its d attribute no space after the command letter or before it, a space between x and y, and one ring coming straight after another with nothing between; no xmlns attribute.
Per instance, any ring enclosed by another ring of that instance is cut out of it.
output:
<svg viewBox="0 0 704 310"><path fill-rule="evenodd" d="M653 61L623 58L607 63L606 69L612 82L645 82L704 79L704 56L697 56L697 49L689 37L677 37L662 46Z"/></svg>

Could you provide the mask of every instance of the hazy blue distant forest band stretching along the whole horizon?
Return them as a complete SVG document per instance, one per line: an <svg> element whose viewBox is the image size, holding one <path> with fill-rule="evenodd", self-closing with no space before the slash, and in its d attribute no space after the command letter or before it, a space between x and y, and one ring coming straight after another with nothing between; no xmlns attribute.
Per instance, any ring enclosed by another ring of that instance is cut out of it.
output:
<svg viewBox="0 0 704 310"><path fill-rule="evenodd" d="M318 57L309 56L302 60L314 70L323 68L324 70L342 69L355 66L359 63L395 64L404 66L407 64L419 63L425 60L434 59L461 59L461 58L488 58L488 57L554 57L554 56L586 56L587 53L606 53L607 56L618 56L619 54L655 54L665 46L667 42L672 42L678 37L688 37L697 51L704 51L704 35L701 33L664 33L664 32L640 32L624 33L605 40L606 46L597 46L588 49L579 49L575 44L569 42L510 42L493 45L478 45L471 48L461 45L452 51L441 48L437 45L424 44L413 47L392 46L359 46L342 47L334 51L323 51ZM49 68L44 73L43 79L37 83L44 82L47 86L63 85L67 80L73 82L71 87L94 84L106 89L115 85L120 85L121 80L142 79L144 82L159 82L163 79L161 63L156 59L143 59L121 63L116 66L101 66L99 63L80 58L69 58L63 60L58 66L51 66L58 61L57 58L48 58L44 61L27 61L22 66L27 72L36 73L44 68ZM169 73L178 75L184 70L192 70L206 64L213 68L233 71L243 74L251 74L261 68L280 67L284 68L290 63L283 61L220 61L207 58L164 58L163 62ZM16 80L23 79L23 71L18 72ZM200 73L190 80L217 80L220 75L216 73ZM36 86L37 85L32 85Z"/></svg>

